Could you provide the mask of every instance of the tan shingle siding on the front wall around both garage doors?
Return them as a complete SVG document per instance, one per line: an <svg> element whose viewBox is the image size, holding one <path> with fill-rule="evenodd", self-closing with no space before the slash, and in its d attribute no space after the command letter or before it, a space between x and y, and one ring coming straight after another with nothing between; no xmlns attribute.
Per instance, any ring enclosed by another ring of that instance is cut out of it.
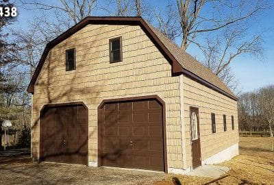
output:
<svg viewBox="0 0 274 185"><path fill-rule="evenodd" d="M108 41L122 36L123 62L110 64ZM76 48L77 67L65 71L64 51ZM182 168L179 77L139 26L87 25L51 49L33 95L33 121L47 103L84 101L88 106L89 156L97 160L97 107L103 99L159 95L166 103L168 166ZM38 127L33 151L38 153Z"/></svg>

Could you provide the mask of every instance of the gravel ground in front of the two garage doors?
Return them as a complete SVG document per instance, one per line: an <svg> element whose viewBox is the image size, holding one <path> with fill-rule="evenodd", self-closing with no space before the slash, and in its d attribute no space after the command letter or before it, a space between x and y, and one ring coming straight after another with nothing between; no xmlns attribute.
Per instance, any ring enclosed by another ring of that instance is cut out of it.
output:
<svg viewBox="0 0 274 185"><path fill-rule="evenodd" d="M0 155L0 184L153 184L164 177L164 173L77 164L34 164L29 156Z"/></svg>

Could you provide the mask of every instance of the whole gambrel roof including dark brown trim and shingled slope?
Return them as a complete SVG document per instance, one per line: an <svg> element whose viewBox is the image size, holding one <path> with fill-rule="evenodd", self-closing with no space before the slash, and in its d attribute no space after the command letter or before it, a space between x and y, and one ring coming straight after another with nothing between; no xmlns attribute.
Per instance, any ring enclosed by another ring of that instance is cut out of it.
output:
<svg viewBox="0 0 274 185"><path fill-rule="evenodd" d="M51 48L55 47L55 45L58 45L60 42L75 34L77 31L79 31L79 29L82 29L88 24L139 25L155 44L155 46L158 47L158 49L162 52L166 60L169 61L172 66L173 75L184 74L231 99L237 100L234 93L232 93L232 91L229 90L229 88L221 81L221 79L212 73L210 69L208 69L206 66L203 66L203 64L195 60L195 58L186 53L186 51L180 49L173 41L169 40L169 38L166 38L164 34L158 32L155 27L144 21L141 17L112 16L88 16L49 42L46 45L44 52L42 53L42 57L40 58L36 71L34 72L31 82L29 83L27 88L28 93L34 93L34 84L36 83L36 79L38 78L38 75Z"/></svg>

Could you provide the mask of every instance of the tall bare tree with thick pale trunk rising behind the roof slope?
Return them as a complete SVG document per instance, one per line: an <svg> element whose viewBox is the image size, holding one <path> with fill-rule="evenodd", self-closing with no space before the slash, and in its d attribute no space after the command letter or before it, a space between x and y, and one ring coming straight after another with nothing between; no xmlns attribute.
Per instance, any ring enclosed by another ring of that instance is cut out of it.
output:
<svg viewBox="0 0 274 185"><path fill-rule="evenodd" d="M182 29L181 48L184 50L201 33L214 32L234 23L243 23L269 8L266 1L176 1ZM212 9L202 14L206 5Z"/></svg>

